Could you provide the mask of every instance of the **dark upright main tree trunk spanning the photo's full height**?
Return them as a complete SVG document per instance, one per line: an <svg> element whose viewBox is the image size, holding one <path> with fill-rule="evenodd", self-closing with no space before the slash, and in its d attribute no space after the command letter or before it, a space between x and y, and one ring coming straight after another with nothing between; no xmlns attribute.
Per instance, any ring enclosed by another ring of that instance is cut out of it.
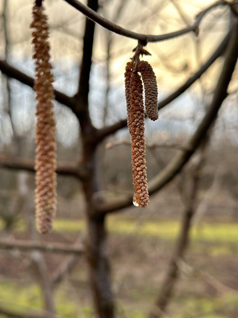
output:
<svg viewBox="0 0 238 318"><path fill-rule="evenodd" d="M97 10L98 1L88 0L88 6ZM85 252L89 265L89 280L91 284L96 317L113 318L114 301L110 283L109 263L106 252L105 217L93 218L95 206L94 194L98 192L98 160L96 143L92 136L96 135L96 129L92 126L89 116L88 93L91 58L93 49L95 24L86 19L83 38L83 57L80 67L79 87L76 98L83 105L79 123L81 127L81 139L83 144L83 166L87 171L87 177L83 180L83 191L86 200L87 240Z"/></svg>

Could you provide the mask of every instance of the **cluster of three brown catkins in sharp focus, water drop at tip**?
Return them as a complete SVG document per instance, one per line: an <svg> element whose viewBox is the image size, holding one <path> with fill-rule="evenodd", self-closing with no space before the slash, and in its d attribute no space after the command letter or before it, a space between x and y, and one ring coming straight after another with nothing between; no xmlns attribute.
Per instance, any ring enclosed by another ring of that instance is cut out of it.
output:
<svg viewBox="0 0 238 318"><path fill-rule="evenodd" d="M136 71L134 70L136 65ZM158 119L158 89L155 73L146 61L128 62L125 72L125 95L127 104L127 125L131 135L132 175L135 194L133 204L146 207L149 203L145 161L145 127L143 86L145 90L145 110L149 119Z"/></svg>

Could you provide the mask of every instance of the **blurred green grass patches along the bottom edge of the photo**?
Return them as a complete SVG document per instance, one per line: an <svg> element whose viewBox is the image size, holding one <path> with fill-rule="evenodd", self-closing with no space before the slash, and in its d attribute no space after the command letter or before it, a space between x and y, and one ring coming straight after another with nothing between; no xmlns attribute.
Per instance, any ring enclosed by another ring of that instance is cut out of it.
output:
<svg viewBox="0 0 238 318"><path fill-rule="evenodd" d="M85 304L85 301L81 304L78 302L80 299L78 296L78 291L73 291L70 287L67 287L67 284L61 285L55 293L57 313L60 316L67 318L74 318L77 316L84 316L85 318L92 317L92 308L90 307L90 304ZM145 303L144 309L148 308L151 299L145 297L144 294L141 294L141 299L139 299L138 296L139 295L136 296L136 300L129 301L128 304L123 303L123 306L121 306L119 301L117 308L118 312L123 314L123 311L126 311L127 316L130 318L147 317L145 310L143 310L143 303ZM139 306L135 306L135 301L139 302ZM176 306L177 308L177 310L175 310L177 313L171 315L171 318L193 318L200 316L203 318L229 318L226 315L220 314L219 310L228 307L230 309L238 308L237 297L230 294L224 294L223 296L216 298L175 296L173 304L173 306ZM29 313L29 311L34 312L37 309L40 310L43 308L41 290L37 285L26 284L25 282L21 284L12 282L11 280L2 281L0 289L0 305L19 313Z"/></svg>

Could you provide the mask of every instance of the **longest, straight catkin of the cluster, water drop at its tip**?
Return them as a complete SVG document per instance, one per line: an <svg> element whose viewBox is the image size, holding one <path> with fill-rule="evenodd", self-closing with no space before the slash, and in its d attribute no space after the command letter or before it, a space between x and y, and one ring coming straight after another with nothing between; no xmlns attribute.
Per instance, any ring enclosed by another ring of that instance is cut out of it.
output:
<svg viewBox="0 0 238 318"><path fill-rule="evenodd" d="M145 162L145 128L143 86L137 72L130 80L131 156L136 204L145 207L149 202Z"/></svg>

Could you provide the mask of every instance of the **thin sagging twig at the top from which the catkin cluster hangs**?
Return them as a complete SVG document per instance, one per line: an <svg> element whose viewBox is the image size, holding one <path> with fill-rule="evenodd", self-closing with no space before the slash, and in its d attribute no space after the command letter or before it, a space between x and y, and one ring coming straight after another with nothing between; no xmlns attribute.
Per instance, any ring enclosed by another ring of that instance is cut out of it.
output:
<svg viewBox="0 0 238 318"><path fill-rule="evenodd" d="M212 10L213 8L220 5L229 5L229 3L225 0L217 1L213 3L212 5L210 5L207 9L200 12L197 15L196 21L192 26L189 26L179 31L167 33L167 34L147 35L147 34L140 34L140 33L129 31L127 29L122 28L121 26L117 24L112 23L111 21L100 16L100 14L96 13L94 10L90 9L89 7L81 3L80 1L77 1L77 0L65 0L65 1L68 2L70 5L72 5L74 8L76 8L77 10L79 10L80 12L82 12L86 17L100 24L107 30L112 31L116 34L128 37L128 38L140 40L144 42L144 44L146 44L147 42L159 42L159 41L164 41L170 38L175 38L191 31L193 31L196 35L198 35L198 32L199 32L198 26L202 18L204 17L204 15L209 10Z"/></svg>

